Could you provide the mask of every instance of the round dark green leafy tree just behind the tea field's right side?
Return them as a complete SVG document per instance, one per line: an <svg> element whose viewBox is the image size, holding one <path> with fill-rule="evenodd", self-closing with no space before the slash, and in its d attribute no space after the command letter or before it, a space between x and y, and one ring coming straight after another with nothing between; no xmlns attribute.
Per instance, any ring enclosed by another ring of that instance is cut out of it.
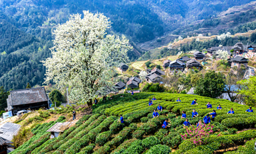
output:
<svg viewBox="0 0 256 154"><path fill-rule="evenodd" d="M222 74L220 74L220 72L216 73L214 71L210 71L207 72L203 78L200 78L197 81L195 94L216 98L222 94L224 86L225 83Z"/></svg>

